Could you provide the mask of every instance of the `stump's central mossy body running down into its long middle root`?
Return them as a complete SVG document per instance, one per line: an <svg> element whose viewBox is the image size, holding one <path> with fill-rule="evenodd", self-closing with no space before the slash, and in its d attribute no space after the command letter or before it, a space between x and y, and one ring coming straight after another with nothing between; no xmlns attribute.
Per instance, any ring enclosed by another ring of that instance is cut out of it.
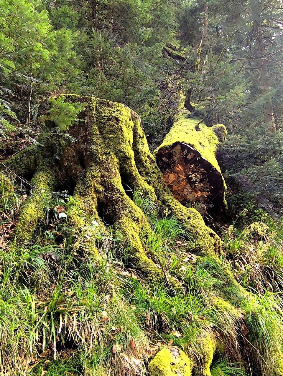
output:
<svg viewBox="0 0 283 376"><path fill-rule="evenodd" d="M75 195L81 207L97 218L115 223L125 244L125 256L132 266L153 282L165 280L163 271L146 254L140 233L150 232L142 211L128 195L131 188L141 188L155 201L156 195L140 176L134 160L132 111L120 103L93 97L69 96L87 103L85 134L78 138L76 149L83 150L85 169L76 179ZM72 129L81 133L81 124ZM83 144L80 144L83 143ZM82 147L87 144L87 147ZM99 213L99 214L98 214Z"/></svg>

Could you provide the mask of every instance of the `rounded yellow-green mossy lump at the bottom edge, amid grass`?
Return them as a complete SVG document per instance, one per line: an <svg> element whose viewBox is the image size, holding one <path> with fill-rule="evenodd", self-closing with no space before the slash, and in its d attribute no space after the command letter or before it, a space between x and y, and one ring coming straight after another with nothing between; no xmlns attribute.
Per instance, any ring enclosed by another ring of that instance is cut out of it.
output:
<svg viewBox="0 0 283 376"><path fill-rule="evenodd" d="M176 347L164 347L148 365L150 376L191 376L193 364L184 351Z"/></svg>

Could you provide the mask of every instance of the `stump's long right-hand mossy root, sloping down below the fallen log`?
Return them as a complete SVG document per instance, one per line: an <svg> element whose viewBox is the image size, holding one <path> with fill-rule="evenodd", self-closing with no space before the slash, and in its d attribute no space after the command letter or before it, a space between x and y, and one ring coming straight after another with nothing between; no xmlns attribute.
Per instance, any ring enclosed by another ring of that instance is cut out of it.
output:
<svg viewBox="0 0 283 376"><path fill-rule="evenodd" d="M199 255L209 255L221 249L220 238L216 233L205 226L202 216L193 208L186 208L178 202L168 189L163 175L155 159L151 155L140 118L133 116L133 150L138 171L150 186L155 190L156 196L163 206L164 212L172 214L183 222L194 240L194 249Z"/></svg>

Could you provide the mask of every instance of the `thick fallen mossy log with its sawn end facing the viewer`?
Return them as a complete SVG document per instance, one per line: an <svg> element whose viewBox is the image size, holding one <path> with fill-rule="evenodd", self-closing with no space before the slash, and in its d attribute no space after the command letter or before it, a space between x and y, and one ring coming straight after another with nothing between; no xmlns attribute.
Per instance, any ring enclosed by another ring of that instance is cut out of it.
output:
<svg viewBox="0 0 283 376"><path fill-rule="evenodd" d="M208 127L182 105L154 153L173 196L202 214L226 208L226 185L216 160L217 147L225 136L223 124Z"/></svg>

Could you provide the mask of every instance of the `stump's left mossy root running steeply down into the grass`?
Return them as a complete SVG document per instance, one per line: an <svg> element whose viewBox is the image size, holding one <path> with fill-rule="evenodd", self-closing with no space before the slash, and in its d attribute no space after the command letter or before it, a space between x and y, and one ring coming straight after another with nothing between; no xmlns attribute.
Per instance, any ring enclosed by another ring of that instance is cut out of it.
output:
<svg viewBox="0 0 283 376"><path fill-rule="evenodd" d="M19 242L31 241L38 221L43 217L44 200L54 190L55 168L50 159L43 159L31 179L31 195L24 203L13 237Z"/></svg>

